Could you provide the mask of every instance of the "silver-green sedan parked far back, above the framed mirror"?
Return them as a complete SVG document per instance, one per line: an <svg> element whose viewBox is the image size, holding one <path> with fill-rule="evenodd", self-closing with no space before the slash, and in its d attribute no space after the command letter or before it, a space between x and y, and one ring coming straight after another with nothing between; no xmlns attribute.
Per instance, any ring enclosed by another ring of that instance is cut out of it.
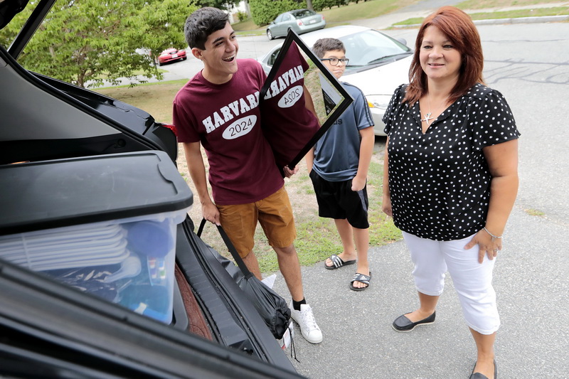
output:
<svg viewBox="0 0 569 379"><path fill-rule="evenodd" d="M297 32L297 34L302 34L323 29L325 26L326 21L321 14L309 9L295 9L278 15L267 26L267 38L272 40L273 38L284 37L289 29Z"/></svg>

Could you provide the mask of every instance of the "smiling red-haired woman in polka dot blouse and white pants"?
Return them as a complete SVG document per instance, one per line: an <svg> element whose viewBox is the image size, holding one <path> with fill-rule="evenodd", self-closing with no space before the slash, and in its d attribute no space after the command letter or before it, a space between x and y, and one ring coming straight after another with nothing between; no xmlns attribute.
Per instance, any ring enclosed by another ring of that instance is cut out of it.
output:
<svg viewBox="0 0 569 379"><path fill-rule="evenodd" d="M471 379L496 378L492 270L518 189L520 134L504 97L484 85L483 65L472 20L443 6L423 21L410 84L383 117L383 211L403 231L420 302L393 329L435 321L448 271L477 346Z"/></svg>

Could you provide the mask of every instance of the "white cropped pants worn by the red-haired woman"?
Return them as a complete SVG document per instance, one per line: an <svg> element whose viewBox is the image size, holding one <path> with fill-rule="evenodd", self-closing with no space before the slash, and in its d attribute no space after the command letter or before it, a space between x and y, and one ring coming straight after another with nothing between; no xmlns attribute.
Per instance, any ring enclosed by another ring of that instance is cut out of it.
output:
<svg viewBox="0 0 569 379"><path fill-rule="evenodd" d="M498 330L500 317L496 292L492 287L494 260L484 255L478 262L478 245L464 250L474 235L462 240L435 241L403 232L415 265L415 286L422 294L439 296L445 287L445 272L450 273L462 305L464 319L475 331L491 334Z"/></svg>

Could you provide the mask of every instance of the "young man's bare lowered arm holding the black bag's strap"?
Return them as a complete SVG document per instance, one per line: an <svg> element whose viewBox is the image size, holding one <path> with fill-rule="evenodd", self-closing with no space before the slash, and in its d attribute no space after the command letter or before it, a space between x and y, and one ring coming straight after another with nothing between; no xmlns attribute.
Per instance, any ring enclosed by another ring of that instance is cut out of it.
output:
<svg viewBox="0 0 569 379"><path fill-rule="evenodd" d="M206 181L206 166L203 164L200 143L185 142L183 146L191 180L193 181L193 185L196 186L196 191L198 191L202 216L211 223L220 225L219 210L209 196L208 183Z"/></svg>

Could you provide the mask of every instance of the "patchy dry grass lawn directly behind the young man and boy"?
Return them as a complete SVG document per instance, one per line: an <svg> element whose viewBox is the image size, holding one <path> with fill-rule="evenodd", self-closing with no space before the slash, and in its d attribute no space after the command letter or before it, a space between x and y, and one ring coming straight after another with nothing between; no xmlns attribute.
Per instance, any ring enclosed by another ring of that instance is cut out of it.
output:
<svg viewBox="0 0 569 379"><path fill-rule="evenodd" d="M127 102L152 114L160 122L171 122L171 104L176 92L186 80L172 82L146 83L136 87L110 87L95 90L103 95ZM182 146L179 146L178 169L186 179L188 185L195 194L195 188L191 182L186 159ZM379 151L373 155L368 174L368 198L370 204L370 245L380 246L385 243L399 240L401 234L393 225L393 221L381 211L381 181L383 175L383 154ZM294 245L299 253L301 265L312 265L315 262L325 260L331 254L339 254L342 251L341 242L336 232L336 226L331 219L318 217L318 206L312 182L308 176L308 170L304 161L299 164L299 173L292 178L285 179L289 193L294 220L297 226L297 240ZM190 211L194 223L201 220L201 207L194 198L195 205ZM205 228L202 238L222 254L230 257L217 233L216 228ZM278 269L277 257L272 248L267 244L262 229L257 228L255 236L255 254L258 257L262 272L275 272Z"/></svg>

